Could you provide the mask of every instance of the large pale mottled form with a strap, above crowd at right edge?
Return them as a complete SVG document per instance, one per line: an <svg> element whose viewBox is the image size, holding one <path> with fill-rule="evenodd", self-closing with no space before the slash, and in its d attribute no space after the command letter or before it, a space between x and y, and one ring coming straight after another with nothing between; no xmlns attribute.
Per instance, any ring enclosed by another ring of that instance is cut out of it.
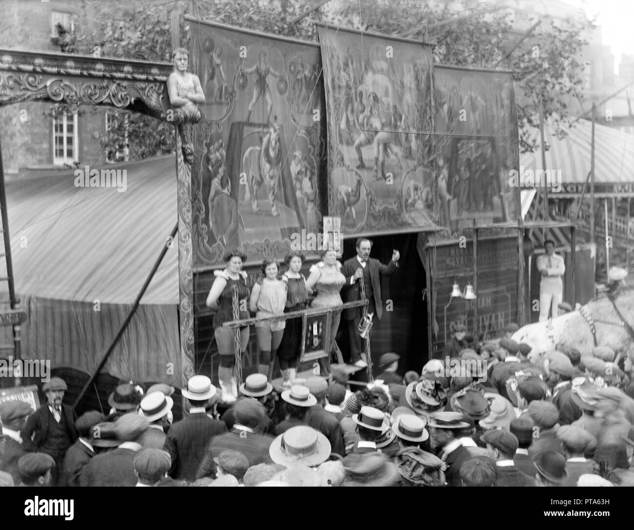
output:
<svg viewBox="0 0 634 530"><path fill-rule="evenodd" d="M617 292L614 304L618 312L611 299L604 296L578 307L576 311L553 318L550 323L543 321L526 325L511 338L515 342L525 342L531 346L531 356L564 344L578 349L582 356L589 355L595 344L590 323L582 314L585 313L592 318L597 344L609 346L617 353L623 352L634 344L634 336L631 334L634 326L634 287L625 287Z"/></svg>

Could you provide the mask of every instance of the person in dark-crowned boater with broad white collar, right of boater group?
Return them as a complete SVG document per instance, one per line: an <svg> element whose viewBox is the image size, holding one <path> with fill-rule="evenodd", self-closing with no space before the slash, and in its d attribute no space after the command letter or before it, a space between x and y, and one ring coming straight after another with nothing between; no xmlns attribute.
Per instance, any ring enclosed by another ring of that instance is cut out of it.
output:
<svg viewBox="0 0 634 530"><path fill-rule="evenodd" d="M428 425L432 448L448 466L444 473L447 485L462 486L460 468L473 456L460 443L458 432L469 427L469 423L460 413L436 412L429 417Z"/></svg>

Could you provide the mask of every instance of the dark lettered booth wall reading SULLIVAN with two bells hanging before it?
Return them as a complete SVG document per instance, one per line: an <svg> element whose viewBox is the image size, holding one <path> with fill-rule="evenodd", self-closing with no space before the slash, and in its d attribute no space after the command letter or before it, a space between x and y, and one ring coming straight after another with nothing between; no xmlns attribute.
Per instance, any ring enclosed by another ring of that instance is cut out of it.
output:
<svg viewBox="0 0 634 530"><path fill-rule="evenodd" d="M424 236L419 236L419 252ZM474 285L473 243L439 244L427 247L425 262L430 271L430 340L432 356L439 357L451 338L453 325L463 323L467 333L495 339L509 322L517 321L518 260L517 237L479 240L477 244L477 285ZM467 283L475 287L477 299L450 299L453 283L464 292ZM477 318L476 318L477 313Z"/></svg>

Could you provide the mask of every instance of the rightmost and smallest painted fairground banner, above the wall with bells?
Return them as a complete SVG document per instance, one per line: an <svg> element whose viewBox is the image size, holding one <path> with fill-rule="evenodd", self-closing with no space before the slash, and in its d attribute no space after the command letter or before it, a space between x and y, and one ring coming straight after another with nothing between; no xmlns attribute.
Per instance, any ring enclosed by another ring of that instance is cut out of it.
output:
<svg viewBox="0 0 634 530"><path fill-rule="evenodd" d="M514 94L510 73L434 68L439 224L452 232L519 215Z"/></svg>

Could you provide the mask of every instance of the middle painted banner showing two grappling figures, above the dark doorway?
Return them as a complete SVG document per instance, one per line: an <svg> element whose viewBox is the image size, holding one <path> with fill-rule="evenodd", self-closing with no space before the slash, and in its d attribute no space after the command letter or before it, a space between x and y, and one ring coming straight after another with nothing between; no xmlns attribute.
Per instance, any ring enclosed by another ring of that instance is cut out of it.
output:
<svg viewBox="0 0 634 530"><path fill-rule="evenodd" d="M432 54L421 42L318 27L328 211L344 233L434 226Z"/></svg>

